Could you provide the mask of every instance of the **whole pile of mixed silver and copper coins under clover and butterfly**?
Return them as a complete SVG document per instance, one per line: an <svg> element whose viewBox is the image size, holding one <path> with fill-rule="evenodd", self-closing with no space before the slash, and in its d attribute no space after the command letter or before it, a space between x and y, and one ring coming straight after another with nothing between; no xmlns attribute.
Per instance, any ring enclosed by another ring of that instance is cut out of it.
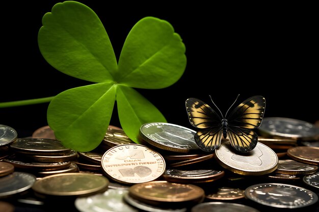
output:
<svg viewBox="0 0 319 212"><path fill-rule="evenodd" d="M147 123L139 144L109 126L92 152L75 152L48 126L18 138L0 125L0 211L268 211L318 209L319 129L264 118L258 143L238 153L227 139L203 152L196 131ZM11 209L11 210L10 210Z"/></svg>

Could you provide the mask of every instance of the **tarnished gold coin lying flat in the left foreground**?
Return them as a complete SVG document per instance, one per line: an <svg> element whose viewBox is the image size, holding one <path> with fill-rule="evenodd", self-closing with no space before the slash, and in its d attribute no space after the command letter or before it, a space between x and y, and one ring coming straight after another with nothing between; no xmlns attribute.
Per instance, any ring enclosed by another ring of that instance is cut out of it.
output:
<svg viewBox="0 0 319 212"><path fill-rule="evenodd" d="M87 196L108 189L104 176L87 173L54 174L37 180L32 189L45 196Z"/></svg>

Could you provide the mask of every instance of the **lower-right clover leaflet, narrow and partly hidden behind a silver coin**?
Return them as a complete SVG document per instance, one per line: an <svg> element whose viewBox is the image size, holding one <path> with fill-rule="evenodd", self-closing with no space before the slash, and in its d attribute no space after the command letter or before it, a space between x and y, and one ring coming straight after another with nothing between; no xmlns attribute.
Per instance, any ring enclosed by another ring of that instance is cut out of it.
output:
<svg viewBox="0 0 319 212"><path fill-rule="evenodd" d="M134 88L118 85L116 98L121 126L128 137L137 143L142 124L166 122L163 114Z"/></svg>

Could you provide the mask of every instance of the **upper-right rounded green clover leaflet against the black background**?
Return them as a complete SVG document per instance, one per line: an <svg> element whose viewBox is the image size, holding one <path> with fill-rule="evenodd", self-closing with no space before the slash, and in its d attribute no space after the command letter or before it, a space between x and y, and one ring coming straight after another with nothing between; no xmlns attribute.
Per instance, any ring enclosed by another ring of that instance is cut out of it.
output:
<svg viewBox="0 0 319 212"><path fill-rule="evenodd" d="M130 87L164 88L181 77L185 66L185 46L172 25L146 17L135 24L125 40L116 80Z"/></svg>

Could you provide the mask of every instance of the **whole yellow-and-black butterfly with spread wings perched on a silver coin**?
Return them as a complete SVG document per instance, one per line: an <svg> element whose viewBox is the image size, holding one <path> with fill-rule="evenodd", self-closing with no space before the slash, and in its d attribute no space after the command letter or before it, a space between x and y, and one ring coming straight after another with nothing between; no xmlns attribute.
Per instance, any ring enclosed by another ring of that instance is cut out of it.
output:
<svg viewBox="0 0 319 212"><path fill-rule="evenodd" d="M209 98L215 105L210 96ZM187 99L185 105L191 125L199 128L194 138L200 149L211 152L220 146L222 136L224 139L228 138L231 146L238 152L247 153L255 148L258 136L252 129L258 128L262 122L266 105L262 96L248 98L228 114L229 108L225 117L216 105L221 116L196 98Z"/></svg>

